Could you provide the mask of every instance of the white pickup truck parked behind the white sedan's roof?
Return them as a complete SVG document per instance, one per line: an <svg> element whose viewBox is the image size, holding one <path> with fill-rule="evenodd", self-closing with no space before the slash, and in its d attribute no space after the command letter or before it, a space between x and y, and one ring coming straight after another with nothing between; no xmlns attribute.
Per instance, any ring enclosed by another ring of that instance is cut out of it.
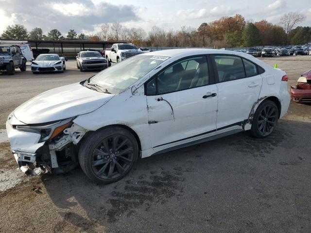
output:
<svg viewBox="0 0 311 233"><path fill-rule="evenodd" d="M142 53L142 51L138 50L135 45L125 43L113 44L111 50L105 50L108 66L111 65L111 62L118 63L126 58L138 55L140 53Z"/></svg>

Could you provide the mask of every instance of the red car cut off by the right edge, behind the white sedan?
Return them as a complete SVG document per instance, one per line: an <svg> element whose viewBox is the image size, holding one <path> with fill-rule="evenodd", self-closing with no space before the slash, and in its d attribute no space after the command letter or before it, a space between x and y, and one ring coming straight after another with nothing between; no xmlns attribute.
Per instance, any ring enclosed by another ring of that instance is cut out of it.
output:
<svg viewBox="0 0 311 233"><path fill-rule="evenodd" d="M302 73L297 85L291 86L291 97L296 102L311 103L311 70Z"/></svg>

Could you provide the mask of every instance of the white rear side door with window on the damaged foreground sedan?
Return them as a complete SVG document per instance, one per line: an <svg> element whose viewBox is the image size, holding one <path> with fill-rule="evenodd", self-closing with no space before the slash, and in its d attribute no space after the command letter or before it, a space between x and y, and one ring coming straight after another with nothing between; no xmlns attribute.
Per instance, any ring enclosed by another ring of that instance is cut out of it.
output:
<svg viewBox="0 0 311 233"><path fill-rule="evenodd" d="M259 98L262 77L256 64L233 55L213 55L218 78L217 130L242 125Z"/></svg>

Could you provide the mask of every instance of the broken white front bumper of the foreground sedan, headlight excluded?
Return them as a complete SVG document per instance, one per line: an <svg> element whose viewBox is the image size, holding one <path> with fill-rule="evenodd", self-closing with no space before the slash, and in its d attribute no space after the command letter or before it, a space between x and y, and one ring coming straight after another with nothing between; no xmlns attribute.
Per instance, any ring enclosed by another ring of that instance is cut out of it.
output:
<svg viewBox="0 0 311 233"><path fill-rule="evenodd" d="M6 122L11 149L19 169L28 175L50 172L53 168L72 167L77 163L75 146L86 130L71 122L69 128L60 132L53 140L40 142L40 133L17 130L16 125L27 126L14 115Z"/></svg>

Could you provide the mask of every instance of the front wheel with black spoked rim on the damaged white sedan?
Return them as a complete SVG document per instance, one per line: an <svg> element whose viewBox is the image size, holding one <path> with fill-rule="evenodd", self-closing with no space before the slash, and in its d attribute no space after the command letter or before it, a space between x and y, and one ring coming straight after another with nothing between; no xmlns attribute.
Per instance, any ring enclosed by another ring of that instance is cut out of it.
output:
<svg viewBox="0 0 311 233"><path fill-rule="evenodd" d="M121 127L109 127L86 137L79 150L79 163L89 179L113 183L132 169L138 152L138 143L132 133Z"/></svg>

